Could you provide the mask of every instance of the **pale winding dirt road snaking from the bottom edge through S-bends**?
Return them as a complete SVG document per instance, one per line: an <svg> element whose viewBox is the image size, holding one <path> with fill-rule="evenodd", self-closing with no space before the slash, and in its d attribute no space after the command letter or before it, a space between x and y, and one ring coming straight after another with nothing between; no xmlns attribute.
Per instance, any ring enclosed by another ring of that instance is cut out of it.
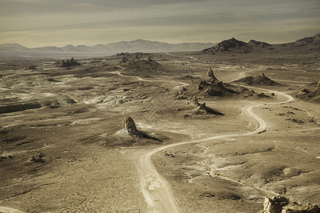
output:
<svg viewBox="0 0 320 213"><path fill-rule="evenodd" d="M252 87L254 88L254 87ZM258 88L256 88L258 89ZM260 89L260 88L259 88ZM284 97L286 100L283 102L277 102L272 104L253 104L242 108L242 111L247 114L250 119L253 119L257 123L257 127L254 131L247 133L227 133L220 134L217 136L211 136L208 138L201 138L191 141L183 141L179 143L171 143L165 146L159 146L153 148L149 151L145 151L142 155L139 156L137 161L138 172L139 172L139 182L140 190L147 204L147 212L181 212L179 208L178 201L174 198L173 192L169 183L164 180L164 178L159 175L154 167L154 163L151 161L151 155L162 151L166 148L171 148L174 146L179 146L188 143L199 143L203 141L210 141L218 138L227 138L227 137L236 137L236 136L247 136L263 131L267 128L267 122L263 120L260 116L257 116L252 109L255 107L260 107L262 105L273 105L273 104L284 104L289 103L294 100L293 97L282 92L273 91L270 89L264 89L267 92L274 92L278 96Z"/></svg>

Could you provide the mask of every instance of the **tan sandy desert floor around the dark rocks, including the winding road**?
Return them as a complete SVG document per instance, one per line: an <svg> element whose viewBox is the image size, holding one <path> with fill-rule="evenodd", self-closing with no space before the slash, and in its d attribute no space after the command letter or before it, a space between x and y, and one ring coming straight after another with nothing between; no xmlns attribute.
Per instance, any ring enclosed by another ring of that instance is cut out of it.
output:
<svg viewBox="0 0 320 213"><path fill-rule="evenodd" d="M320 204L319 103L294 96L319 80L313 52L151 58L1 63L1 110L20 105L0 114L0 212L257 212L273 195ZM264 72L286 85L248 87L272 98L199 95L224 116L199 114L188 102L209 67L223 82ZM161 141L118 136L124 115Z"/></svg>

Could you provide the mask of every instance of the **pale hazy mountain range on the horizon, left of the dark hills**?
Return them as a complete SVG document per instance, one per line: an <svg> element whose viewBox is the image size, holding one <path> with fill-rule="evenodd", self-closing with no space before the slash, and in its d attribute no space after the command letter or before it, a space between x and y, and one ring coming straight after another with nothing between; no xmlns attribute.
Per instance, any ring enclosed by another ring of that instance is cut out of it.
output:
<svg viewBox="0 0 320 213"><path fill-rule="evenodd" d="M43 48L26 48L18 43L7 43L0 45L0 53L75 53L75 54L115 54L115 53L164 53L164 52L183 52L198 51L210 48L215 43L178 43L170 44L150 40L132 40L107 45L99 44L94 46L86 45L66 45L58 48L48 46Z"/></svg>

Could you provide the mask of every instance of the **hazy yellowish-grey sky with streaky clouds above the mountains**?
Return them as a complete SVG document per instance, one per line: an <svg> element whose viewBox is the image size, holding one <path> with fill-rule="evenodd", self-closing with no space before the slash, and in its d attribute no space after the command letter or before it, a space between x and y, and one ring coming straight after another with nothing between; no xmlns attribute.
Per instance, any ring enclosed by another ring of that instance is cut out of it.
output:
<svg viewBox="0 0 320 213"><path fill-rule="evenodd" d="M0 43L284 43L320 33L319 0L0 0Z"/></svg>

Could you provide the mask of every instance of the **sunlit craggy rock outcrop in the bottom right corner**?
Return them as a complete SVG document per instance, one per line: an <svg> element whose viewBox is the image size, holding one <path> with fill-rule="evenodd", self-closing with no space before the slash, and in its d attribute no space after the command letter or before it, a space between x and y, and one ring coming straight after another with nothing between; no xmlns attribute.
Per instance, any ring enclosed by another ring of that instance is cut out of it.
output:
<svg viewBox="0 0 320 213"><path fill-rule="evenodd" d="M278 195L277 197L265 198L263 209L258 213L316 213L320 209L313 204L298 204L289 202L289 199Z"/></svg>

